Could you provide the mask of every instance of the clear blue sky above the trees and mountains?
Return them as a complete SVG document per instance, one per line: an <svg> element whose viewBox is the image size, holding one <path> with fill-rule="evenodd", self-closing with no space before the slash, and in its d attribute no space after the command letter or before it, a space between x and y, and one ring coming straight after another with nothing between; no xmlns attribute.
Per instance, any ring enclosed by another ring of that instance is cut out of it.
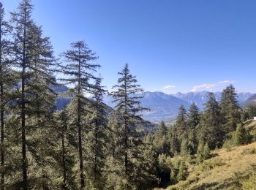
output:
<svg viewBox="0 0 256 190"><path fill-rule="evenodd" d="M2 0L6 12L18 0ZM146 91L256 93L255 0L33 0L56 55L84 39L108 88L128 62ZM174 88L175 86L175 88ZM164 89L165 87L165 89ZM193 88L194 87L194 88Z"/></svg>

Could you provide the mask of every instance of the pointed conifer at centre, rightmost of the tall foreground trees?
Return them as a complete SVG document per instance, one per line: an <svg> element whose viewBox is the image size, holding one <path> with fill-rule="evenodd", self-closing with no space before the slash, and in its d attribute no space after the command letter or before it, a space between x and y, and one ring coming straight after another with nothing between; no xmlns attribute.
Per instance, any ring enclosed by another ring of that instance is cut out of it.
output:
<svg viewBox="0 0 256 190"><path fill-rule="evenodd" d="M118 79L118 85L113 87L116 90L112 92L114 102L116 102L115 108L120 117L118 123L121 124L122 129L120 143L123 152L118 156L118 159L123 162L124 175L127 176L127 182L123 188L131 189L132 186L138 186L138 172L141 170L138 164L140 164L142 153L140 148L143 145L140 138L141 134L138 132L138 124L142 122L140 113L145 109L140 107L139 99L142 97L138 94L143 89L137 84L135 76L129 73L128 64L124 66L121 72L118 72L118 75L121 77Z"/></svg>

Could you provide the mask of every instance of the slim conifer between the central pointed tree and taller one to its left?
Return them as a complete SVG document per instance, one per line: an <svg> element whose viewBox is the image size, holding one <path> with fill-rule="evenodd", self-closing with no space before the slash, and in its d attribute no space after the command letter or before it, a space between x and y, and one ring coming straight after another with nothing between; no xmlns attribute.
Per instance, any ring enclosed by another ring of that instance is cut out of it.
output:
<svg viewBox="0 0 256 190"><path fill-rule="evenodd" d="M94 102L91 105L92 113L89 115L90 129L87 134L86 155L89 178L93 188L104 189L105 186L105 146L106 146L106 128L108 126L107 109L108 106L102 102L105 89L101 86L102 78L97 77L95 88L93 90Z"/></svg>

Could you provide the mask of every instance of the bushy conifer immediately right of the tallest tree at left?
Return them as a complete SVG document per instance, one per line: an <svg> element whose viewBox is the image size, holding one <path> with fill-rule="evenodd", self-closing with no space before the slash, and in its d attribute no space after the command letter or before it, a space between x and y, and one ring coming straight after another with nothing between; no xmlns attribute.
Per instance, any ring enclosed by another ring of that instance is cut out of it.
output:
<svg viewBox="0 0 256 190"><path fill-rule="evenodd" d="M34 157L34 161L30 161L29 166L42 171L37 173L40 183L37 183L36 186L46 189L50 186L50 180L48 180L50 172L47 171L50 161L46 144L52 138L49 132L52 130L50 129L53 120L51 113L55 107L56 98L56 93L51 88L56 85L55 77L53 77L55 61L50 40L48 37L42 37L41 27L32 24L28 36L34 47L28 50L31 55L29 65L31 83L26 83L26 91L29 91L31 95L27 98L30 103L27 104L26 113L29 115L27 126L32 126L33 130L30 131L33 131L33 134L27 132L28 140L26 142L28 151L37 152L30 153ZM33 135L33 138L30 135ZM31 184L31 187L32 185L35 184Z"/></svg>

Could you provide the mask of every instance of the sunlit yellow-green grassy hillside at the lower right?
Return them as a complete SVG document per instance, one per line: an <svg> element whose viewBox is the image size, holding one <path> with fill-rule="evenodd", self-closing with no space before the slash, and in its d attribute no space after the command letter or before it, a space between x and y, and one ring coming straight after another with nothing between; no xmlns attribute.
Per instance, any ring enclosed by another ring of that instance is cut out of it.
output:
<svg viewBox="0 0 256 190"><path fill-rule="evenodd" d="M246 128L255 132L256 122ZM241 189L241 180L252 175L252 164L256 164L256 142L212 153L215 156L202 164L189 165L187 180L167 189Z"/></svg>

